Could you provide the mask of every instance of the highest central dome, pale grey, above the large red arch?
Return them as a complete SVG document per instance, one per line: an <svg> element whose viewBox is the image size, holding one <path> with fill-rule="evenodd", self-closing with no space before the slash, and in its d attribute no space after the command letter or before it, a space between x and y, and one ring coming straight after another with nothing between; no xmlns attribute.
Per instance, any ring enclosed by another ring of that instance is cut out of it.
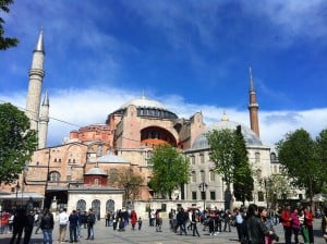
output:
<svg viewBox="0 0 327 244"><path fill-rule="evenodd" d="M129 106L135 106L137 109L137 117L150 117L159 119L178 119L178 115L169 111L161 102L148 99L145 96L133 99L122 105L113 113L123 114Z"/></svg>

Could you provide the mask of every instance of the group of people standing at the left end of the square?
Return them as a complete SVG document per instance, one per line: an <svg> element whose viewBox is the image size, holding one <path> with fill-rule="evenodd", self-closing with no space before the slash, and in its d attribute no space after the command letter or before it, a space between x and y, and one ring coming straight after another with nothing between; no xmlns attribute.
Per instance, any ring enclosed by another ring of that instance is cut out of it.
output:
<svg viewBox="0 0 327 244"><path fill-rule="evenodd" d="M59 222L58 241L60 243L64 243L66 241L70 243L78 242L82 237L81 228L83 227L87 229L86 239L94 240L94 224L96 222L96 216L93 212L93 209L84 212L73 210L70 215L68 215L66 209L62 208L60 209L57 220ZM43 210L29 209L27 211L24 208L20 208L13 209L11 213L2 212L0 227L1 231L7 231L7 233L12 234L10 244L20 244L22 239L24 244L28 244L34 230L35 234L38 234L38 232L41 231L45 244L52 244L55 221L56 219L52 212L47 208ZM66 240L68 230L69 240Z"/></svg>

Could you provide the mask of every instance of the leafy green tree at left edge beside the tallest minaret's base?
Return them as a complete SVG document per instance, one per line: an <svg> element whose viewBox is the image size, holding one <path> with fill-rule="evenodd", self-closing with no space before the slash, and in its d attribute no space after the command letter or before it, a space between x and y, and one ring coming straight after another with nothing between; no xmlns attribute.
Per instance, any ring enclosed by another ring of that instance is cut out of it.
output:
<svg viewBox="0 0 327 244"><path fill-rule="evenodd" d="M19 179L37 146L24 112L10 103L0 105L0 183Z"/></svg>

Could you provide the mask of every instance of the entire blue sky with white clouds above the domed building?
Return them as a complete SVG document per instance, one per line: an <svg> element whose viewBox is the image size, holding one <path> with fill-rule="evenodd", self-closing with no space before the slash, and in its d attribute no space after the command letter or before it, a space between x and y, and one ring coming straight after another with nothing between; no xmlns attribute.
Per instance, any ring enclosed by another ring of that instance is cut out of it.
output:
<svg viewBox="0 0 327 244"><path fill-rule="evenodd" d="M15 1L2 14L17 48L0 52L0 100L25 108L40 27L50 117L76 125L143 94L179 117L249 125L249 66L262 139L327 127L327 2L323 0ZM49 145L78 127L50 120Z"/></svg>

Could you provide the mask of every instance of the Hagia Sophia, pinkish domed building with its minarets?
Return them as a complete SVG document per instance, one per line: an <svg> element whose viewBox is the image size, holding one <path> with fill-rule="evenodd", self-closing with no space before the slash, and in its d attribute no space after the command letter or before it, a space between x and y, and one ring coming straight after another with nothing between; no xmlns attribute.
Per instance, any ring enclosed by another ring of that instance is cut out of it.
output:
<svg viewBox="0 0 327 244"><path fill-rule="evenodd" d="M108 210L125 207L126 188L111 181L120 172L132 172L144 180L138 186L138 194L133 196L133 203L156 200L156 193L147 186L152 178L148 160L157 145L168 143L189 157L191 163L190 182L174 192L175 203L202 205L203 199L206 199L207 205L223 208L226 185L222 176L214 172L204 133L210 130L234 130L241 125L250 164L258 173L254 200L265 205L265 190L259 179L278 173L279 163L274 149L259 139L258 103L251 70L247 95L250 127L230 121L227 114L210 125L204 123L202 112L194 112L187 119L179 118L161 102L143 95L125 102L107 118L104 117L102 124L90 124L72 131L62 145L47 147L50 96L46 91L41 99L44 60L41 29L28 72L26 101L31 129L38 133L38 149L26 163L17 183L2 185L1 191L10 192L16 198L21 196L24 203L32 199L37 207L65 206L70 210L94 208L98 217L102 218ZM198 186L204 182L206 188L199 192ZM2 199L2 207L9 200Z"/></svg>

